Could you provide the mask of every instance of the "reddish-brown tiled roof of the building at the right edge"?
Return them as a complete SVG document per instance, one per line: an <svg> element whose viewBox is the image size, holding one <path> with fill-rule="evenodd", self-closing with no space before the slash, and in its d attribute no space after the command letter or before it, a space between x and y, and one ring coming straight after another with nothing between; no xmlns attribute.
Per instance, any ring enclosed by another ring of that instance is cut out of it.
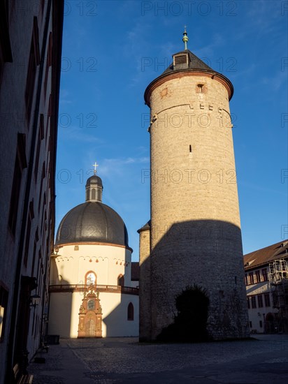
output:
<svg viewBox="0 0 288 384"><path fill-rule="evenodd" d="M253 269L279 258L288 258L288 239L244 255L244 267Z"/></svg>

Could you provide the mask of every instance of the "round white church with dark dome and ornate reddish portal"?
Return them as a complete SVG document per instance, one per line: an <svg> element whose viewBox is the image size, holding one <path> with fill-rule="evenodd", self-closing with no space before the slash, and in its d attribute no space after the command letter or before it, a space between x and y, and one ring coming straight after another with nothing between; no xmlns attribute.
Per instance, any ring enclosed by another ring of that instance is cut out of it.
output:
<svg viewBox="0 0 288 384"><path fill-rule="evenodd" d="M60 337L138 336L138 288L121 217L102 202L96 175L86 201L71 209L57 231L51 258L48 334Z"/></svg>

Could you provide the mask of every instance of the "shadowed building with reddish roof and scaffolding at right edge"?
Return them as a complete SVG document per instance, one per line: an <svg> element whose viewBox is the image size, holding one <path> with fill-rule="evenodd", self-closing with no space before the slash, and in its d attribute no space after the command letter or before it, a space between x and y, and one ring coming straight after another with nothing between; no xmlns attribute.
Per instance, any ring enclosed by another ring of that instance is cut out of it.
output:
<svg viewBox="0 0 288 384"><path fill-rule="evenodd" d="M288 241L244 256L251 333L288 332Z"/></svg>

